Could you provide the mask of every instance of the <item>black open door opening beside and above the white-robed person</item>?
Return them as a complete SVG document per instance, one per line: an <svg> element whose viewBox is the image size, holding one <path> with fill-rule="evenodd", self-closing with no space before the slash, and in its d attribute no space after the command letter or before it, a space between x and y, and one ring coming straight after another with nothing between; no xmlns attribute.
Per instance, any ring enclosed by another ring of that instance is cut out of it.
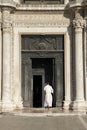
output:
<svg viewBox="0 0 87 130"><path fill-rule="evenodd" d="M53 58L32 58L33 107L44 107L44 86L49 82L54 88Z"/></svg>

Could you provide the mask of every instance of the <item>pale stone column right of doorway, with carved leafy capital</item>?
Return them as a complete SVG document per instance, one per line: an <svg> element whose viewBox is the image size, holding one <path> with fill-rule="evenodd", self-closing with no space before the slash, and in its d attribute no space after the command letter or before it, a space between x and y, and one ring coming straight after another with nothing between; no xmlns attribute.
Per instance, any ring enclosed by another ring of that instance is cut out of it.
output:
<svg viewBox="0 0 87 130"><path fill-rule="evenodd" d="M73 26L75 29L75 73L76 73L76 99L74 108L84 106L84 78L83 78L83 28L85 21L76 12Z"/></svg>

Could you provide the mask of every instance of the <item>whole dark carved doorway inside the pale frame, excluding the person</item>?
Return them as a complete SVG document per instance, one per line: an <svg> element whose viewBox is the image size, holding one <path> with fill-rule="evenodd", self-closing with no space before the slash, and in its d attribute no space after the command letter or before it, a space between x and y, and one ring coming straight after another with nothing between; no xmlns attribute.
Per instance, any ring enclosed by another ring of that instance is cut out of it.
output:
<svg viewBox="0 0 87 130"><path fill-rule="evenodd" d="M31 40L32 37L33 40ZM40 40L38 40L39 38ZM24 107L43 107L43 88L46 82L49 82L54 88L53 106L62 107L65 93L63 44L63 36L22 37L22 97Z"/></svg>

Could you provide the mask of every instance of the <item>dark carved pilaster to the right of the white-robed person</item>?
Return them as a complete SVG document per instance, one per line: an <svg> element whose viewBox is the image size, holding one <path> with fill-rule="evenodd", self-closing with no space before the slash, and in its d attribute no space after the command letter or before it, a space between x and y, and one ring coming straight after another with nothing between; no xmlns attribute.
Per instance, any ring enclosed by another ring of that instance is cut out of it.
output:
<svg viewBox="0 0 87 130"><path fill-rule="evenodd" d="M64 93L62 55L59 55L55 59L55 80L56 80L56 106L61 107L63 102L63 93Z"/></svg>

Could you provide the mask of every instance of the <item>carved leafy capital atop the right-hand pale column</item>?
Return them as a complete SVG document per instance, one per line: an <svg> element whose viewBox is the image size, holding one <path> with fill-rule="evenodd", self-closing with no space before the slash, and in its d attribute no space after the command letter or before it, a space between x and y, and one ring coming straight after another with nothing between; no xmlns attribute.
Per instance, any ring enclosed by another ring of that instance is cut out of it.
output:
<svg viewBox="0 0 87 130"><path fill-rule="evenodd" d="M86 26L86 21L82 18L80 13L75 14L75 19L73 20L73 27L75 29L83 29Z"/></svg>

